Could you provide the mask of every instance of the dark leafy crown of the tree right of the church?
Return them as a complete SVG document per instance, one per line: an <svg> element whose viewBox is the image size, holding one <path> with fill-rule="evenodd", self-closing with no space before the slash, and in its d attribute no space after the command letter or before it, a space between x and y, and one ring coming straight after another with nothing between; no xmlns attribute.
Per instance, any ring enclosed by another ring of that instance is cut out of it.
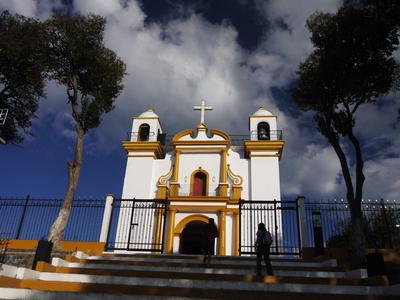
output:
<svg viewBox="0 0 400 300"><path fill-rule="evenodd" d="M307 26L315 49L300 64L292 94L302 110L316 112L322 134L347 135L358 107L388 93L395 82L398 27L352 6L315 13Z"/></svg>

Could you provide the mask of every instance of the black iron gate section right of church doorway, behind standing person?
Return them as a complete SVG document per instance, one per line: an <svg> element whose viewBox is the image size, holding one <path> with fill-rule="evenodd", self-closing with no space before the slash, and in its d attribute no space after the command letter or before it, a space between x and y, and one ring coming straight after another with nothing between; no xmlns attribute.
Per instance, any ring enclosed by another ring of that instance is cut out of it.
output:
<svg viewBox="0 0 400 300"><path fill-rule="evenodd" d="M301 251L296 201L244 201L239 203L239 254L255 254L259 223L271 232L271 254L299 255Z"/></svg>

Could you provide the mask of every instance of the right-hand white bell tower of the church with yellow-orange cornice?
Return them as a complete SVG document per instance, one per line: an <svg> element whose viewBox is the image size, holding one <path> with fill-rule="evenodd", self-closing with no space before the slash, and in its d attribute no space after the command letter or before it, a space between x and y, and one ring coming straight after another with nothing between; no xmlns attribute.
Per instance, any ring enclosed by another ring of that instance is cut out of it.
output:
<svg viewBox="0 0 400 300"><path fill-rule="evenodd" d="M249 116L250 139L245 141L249 159L249 193L252 200L281 199L279 160L283 150L277 116L260 107Z"/></svg>

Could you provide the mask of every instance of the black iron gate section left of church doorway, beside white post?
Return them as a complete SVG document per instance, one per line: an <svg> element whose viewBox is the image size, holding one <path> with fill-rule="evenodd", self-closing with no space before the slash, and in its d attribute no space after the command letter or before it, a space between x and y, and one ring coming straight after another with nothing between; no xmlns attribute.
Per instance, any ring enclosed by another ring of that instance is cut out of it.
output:
<svg viewBox="0 0 400 300"><path fill-rule="evenodd" d="M168 201L114 200L107 250L162 253Z"/></svg>

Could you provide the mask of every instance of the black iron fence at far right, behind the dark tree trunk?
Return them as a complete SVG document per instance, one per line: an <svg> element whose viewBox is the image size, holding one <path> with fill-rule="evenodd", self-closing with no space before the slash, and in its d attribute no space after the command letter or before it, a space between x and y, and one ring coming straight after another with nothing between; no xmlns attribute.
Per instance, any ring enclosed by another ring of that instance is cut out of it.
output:
<svg viewBox="0 0 400 300"><path fill-rule="evenodd" d="M400 248L400 202L363 200L364 232L367 247ZM349 205L344 199L305 201L308 244L314 245L313 213L319 213L325 247L343 247L350 238Z"/></svg>

